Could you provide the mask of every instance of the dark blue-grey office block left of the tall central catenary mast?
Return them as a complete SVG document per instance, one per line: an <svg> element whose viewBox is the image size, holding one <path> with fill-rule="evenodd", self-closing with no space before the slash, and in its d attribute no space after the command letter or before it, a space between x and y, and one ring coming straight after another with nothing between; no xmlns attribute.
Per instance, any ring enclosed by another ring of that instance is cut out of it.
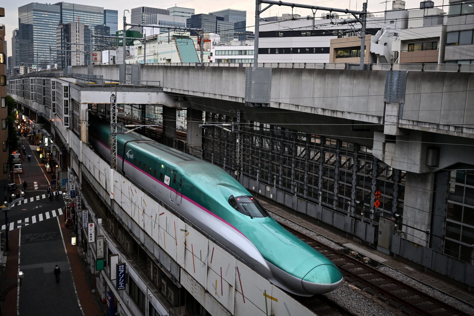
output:
<svg viewBox="0 0 474 316"><path fill-rule="evenodd" d="M224 21L223 17L212 14L195 14L186 19L186 27L203 28L204 33L216 33L220 36L221 42L230 42L234 38L234 23ZM191 35L198 34L191 31Z"/></svg>

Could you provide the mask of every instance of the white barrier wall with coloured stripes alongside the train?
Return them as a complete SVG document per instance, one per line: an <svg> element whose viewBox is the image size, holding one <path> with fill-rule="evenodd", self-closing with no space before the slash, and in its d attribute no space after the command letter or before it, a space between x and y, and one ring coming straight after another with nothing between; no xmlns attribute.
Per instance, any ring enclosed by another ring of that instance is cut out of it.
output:
<svg viewBox="0 0 474 316"><path fill-rule="evenodd" d="M84 143L81 150L84 167L110 198L179 264L182 286L206 310L235 316L314 315L126 177L110 169L109 164Z"/></svg>

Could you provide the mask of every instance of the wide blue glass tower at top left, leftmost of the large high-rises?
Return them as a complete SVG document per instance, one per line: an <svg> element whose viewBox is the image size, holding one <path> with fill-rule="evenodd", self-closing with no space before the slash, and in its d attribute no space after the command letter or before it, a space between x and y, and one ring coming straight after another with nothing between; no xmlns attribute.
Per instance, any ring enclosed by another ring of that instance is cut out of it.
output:
<svg viewBox="0 0 474 316"><path fill-rule="evenodd" d="M17 64L40 67L49 64L49 48L56 46L56 27L61 23L60 9L45 3L18 7Z"/></svg>

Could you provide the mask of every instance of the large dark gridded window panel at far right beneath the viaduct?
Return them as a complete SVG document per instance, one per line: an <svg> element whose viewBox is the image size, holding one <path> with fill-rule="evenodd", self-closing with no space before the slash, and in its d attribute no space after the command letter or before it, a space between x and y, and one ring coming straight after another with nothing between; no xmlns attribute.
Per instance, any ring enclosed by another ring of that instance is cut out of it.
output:
<svg viewBox="0 0 474 316"><path fill-rule="evenodd" d="M451 171L444 253L469 262L474 244L474 170Z"/></svg>

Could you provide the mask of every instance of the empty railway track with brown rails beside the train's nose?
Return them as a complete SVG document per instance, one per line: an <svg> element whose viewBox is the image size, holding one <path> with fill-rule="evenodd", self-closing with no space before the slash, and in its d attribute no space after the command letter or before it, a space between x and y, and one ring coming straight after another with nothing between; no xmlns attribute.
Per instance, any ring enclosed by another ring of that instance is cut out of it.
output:
<svg viewBox="0 0 474 316"><path fill-rule="evenodd" d="M358 253L354 251L345 253L332 249L325 244L301 234L289 226L282 223L280 224L336 264L339 270L344 274L344 280L346 280L346 282L358 289L364 290L371 296L377 296L379 301L401 311L405 315L470 315L456 307L448 305L438 298L433 298L419 289L415 289L400 280L384 274L375 267L365 263L370 262L369 258L361 258Z"/></svg>

